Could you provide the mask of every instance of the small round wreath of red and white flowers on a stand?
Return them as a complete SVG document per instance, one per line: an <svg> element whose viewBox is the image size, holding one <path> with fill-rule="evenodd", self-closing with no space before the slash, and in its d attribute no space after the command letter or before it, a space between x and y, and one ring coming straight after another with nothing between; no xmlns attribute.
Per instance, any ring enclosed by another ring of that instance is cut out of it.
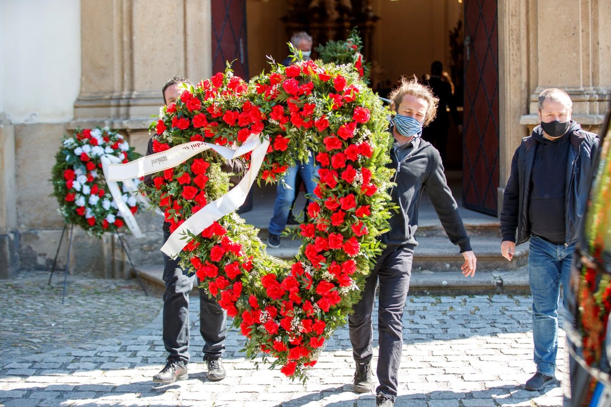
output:
<svg viewBox="0 0 611 407"><path fill-rule="evenodd" d="M123 163L139 157L117 132L108 128L76 129L75 134L62 139L50 180L65 222L97 237L124 225L104 180L101 157L105 155ZM122 192L122 200L135 214L139 209L136 198L126 189Z"/></svg>

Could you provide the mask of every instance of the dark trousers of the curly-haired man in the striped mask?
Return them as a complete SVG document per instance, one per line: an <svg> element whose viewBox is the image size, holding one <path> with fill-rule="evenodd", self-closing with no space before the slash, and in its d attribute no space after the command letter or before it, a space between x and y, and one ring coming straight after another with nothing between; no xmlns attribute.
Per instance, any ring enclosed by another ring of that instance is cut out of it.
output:
<svg viewBox="0 0 611 407"><path fill-rule="evenodd" d="M371 314L375 304L376 286L379 281L378 298L378 375L376 392L397 397L399 366L403 350L403 308L412 275L411 247L397 250L387 248L376 261L375 268L367 277L362 298L353 306L348 317L350 342L357 363L366 363L373 356L373 325Z"/></svg>

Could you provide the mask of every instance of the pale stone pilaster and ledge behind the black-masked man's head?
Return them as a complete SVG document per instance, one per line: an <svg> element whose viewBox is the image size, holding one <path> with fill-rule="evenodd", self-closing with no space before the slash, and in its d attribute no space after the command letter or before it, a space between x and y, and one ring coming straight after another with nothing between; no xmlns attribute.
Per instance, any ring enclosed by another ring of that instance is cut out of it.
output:
<svg viewBox="0 0 611 407"><path fill-rule="evenodd" d="M611 100L609 59L611 8L599 0L535 1L529 18L536 41L530 50L534 79L529 114L520 123L538 123L537 98L550 87L566 90L573 99L573 118L598 132Z"/></svg>

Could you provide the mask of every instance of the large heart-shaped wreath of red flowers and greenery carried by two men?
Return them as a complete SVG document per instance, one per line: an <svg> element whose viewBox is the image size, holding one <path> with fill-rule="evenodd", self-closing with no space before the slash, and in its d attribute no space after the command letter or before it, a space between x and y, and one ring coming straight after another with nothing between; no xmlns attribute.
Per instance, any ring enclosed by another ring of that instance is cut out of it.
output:
<svg viewBox="0 0 611 407"><path fill-rule="evenodd" d="M252 135L269 140L258 173L266 183L281 182L295 160L313 159L319 168L309 223L295 232L303 244L293 264L269 256L257 229L235 212L183 236L181 266L233 317L248 358L273 356L272 367L305 380L324 341L346 323L392 207L387 113L354 65L302 61L273 65L250 82L228 67L186 88L152 124L155 152L189 142L237 148ZM249 154L240 160L251 165ZM223 162L209 149L153 175L147 193L170 231L227 193Z"/></svg>

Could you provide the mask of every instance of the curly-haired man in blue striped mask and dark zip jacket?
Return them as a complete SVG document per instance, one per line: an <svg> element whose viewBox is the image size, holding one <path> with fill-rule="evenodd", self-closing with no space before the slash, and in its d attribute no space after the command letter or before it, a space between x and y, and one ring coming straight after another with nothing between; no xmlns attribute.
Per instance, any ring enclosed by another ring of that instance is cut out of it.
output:
<svg viewBox="0 0 611 407"><path fill-rule="evenodd" d="M390 151L389 166L396 171L393 179L395 186L390 190L390 196L399 209L389 220L390 230L381 236L386 248L376 259L376 265L362 290L362 298L353 306L353 314L348 319L356 362L354 389L357 392L370 392L373 390L371 314L379 281L379 386L376 389L376 405L385 407L392 407L397 398L403 349L401 319L409 290L412 257L418 245L414 234L418 228L418 207L424 190L450 241L458 245L463 254L463 275L474 276L477 263L458 205L445 180L439 151L431 143L420 139L422 127L435 117L438 99L430 88L419 84L415 77L403 78L400 86L390 93L389 99L397 113L390 127L395 143Z"/></svg>

